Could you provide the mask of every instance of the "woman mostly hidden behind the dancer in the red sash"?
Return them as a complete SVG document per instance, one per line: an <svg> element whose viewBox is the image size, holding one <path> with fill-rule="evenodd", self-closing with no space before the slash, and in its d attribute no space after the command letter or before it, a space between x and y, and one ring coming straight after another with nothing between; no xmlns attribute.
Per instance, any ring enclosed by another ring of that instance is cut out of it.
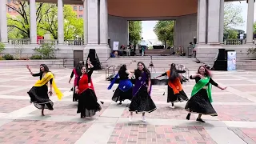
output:
<svg viewBox="0 0 256 144"><path fill-rule="evenodd" d="M82 61L78 62L77 66L75 66L75 68L72 70L72 73L70 75L70 81L74 77L74 87L78 83L78 77L82 74L81 73L82 66L83 66L83 62ZM69 81L69 83L70 83L70 81ZM71 90L74 91L74 93L73 93L73 102L77 102L78 101L78 94L75 94L75 90L73 90L73 88Z"/></svg>

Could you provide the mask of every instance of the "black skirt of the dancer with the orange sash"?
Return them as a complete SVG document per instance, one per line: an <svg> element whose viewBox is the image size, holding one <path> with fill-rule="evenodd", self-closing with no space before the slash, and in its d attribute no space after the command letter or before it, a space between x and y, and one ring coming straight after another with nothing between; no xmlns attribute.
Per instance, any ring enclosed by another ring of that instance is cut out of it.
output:
<svg viewBox="0 0 256 144"><path fill-rule="evenodd" d="M188 100L189 98L187 98L184 90L181 90L178 94L174 94L174 90L168 86L167 102L184 102Z"/></svg>

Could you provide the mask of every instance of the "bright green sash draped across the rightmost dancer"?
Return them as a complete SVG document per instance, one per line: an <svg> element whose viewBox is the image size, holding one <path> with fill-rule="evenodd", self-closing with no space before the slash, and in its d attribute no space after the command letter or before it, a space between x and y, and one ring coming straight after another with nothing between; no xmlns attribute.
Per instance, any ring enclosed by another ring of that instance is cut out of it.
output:
<svg viewBox="0 0 256 144"><path fill-rule="evenodd" d="M207 83L210 82L210 77L207 76L205 78L201 78L193 87L192 93L191 93L191 97L194 96L194 94L197 94L199 90L201 90L204 86L207 85ZM209 83L208 85L208 89L207 89L207 94L208 94L208 98L210 100L210 102L213 102L213 99L211 98L211 88L212 85Z"/></svg>

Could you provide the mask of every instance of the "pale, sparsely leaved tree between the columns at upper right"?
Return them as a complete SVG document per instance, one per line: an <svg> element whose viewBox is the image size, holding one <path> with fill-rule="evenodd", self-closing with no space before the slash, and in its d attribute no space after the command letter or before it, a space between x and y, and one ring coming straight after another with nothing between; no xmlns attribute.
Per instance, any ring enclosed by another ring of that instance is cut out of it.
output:
<svg viewBox="0 0 256 144"><path fill-rule="evenodd" d="M224 30L243 24L242 7L235 6L232 2L225 2L224 5Z"/></svg>

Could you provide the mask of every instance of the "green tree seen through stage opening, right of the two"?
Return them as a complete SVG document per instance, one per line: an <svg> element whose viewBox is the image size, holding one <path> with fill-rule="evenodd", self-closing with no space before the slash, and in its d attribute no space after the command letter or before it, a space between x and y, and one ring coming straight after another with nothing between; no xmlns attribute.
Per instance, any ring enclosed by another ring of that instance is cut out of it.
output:
<svg viewBox="0 0 256 144"><path fill-rule="evenodd" d="M158 21L154 26L154 33L157 35L158 40L166 42L170 46L174 44L174 21Z"/></svg>

